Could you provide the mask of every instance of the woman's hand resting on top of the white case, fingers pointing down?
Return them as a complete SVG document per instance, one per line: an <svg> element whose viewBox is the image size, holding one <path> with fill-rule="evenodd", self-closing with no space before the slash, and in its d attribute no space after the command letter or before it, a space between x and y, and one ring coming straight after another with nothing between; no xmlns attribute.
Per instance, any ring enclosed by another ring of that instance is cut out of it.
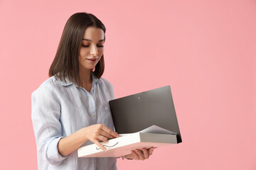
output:
<svg viewBox="0 0 256 170"><path fill-rule="evenodd" d="M94 142L98 147L100 147L102 150L106 150L103 145L101 145L101 141L107 141L108 139L113 139L115 137L119 137L117 132L114 132L110 128L107 128L107 126L102 124L96 124L96 125L90 125L85 128L83 128L84 134L85 134L85 140L90 140Z"/></svg>

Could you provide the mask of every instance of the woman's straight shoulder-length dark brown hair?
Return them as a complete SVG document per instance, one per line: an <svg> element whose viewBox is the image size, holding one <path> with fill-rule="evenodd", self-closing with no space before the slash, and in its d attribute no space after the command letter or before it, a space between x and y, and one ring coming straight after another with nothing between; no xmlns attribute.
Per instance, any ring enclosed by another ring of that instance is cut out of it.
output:
<svg viewBox="0 0 256 170"><path fill-rule="evenodd" d="M88 27L100 28L105 32L106 28L103 23L91 13L75 13L68 18L65 24L63 34L60 38L58 50L56 52L53 63L50 65L49 77L55 75L60 80L65 80L68 77L70 81L82 86L79 74L79 50L82 42L82 36L85 29ZM93 73L100 79L104 72L104 56L102 55L100 61L95 66Z"/></svg>

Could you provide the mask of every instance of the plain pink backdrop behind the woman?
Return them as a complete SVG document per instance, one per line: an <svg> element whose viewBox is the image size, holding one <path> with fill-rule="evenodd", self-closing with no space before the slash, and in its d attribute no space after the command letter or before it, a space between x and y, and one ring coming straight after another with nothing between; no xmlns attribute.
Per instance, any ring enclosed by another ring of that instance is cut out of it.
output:
<svg viewBox="0 0 256 170"><path fill-rule="evenodd" d="M37 169L31 93L80 11L105 23L116 98L173 93L183 142L119 169L256 169L255 0L0 0L0 169Z"/></svg>

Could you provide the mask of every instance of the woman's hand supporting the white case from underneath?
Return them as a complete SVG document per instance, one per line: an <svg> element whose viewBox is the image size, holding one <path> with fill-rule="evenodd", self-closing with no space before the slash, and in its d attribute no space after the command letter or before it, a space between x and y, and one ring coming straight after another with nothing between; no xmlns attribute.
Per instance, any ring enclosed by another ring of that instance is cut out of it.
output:
<svg viewBox="0 0 256 170"><path fill-rule="evenodd" d="M124 155L126 159L134 159L134 160L145 160L149 159L149 156L153 154L154 147L151 147L149 149L143 148L143 149L135 149L132 150L132 154Z"/></svg>

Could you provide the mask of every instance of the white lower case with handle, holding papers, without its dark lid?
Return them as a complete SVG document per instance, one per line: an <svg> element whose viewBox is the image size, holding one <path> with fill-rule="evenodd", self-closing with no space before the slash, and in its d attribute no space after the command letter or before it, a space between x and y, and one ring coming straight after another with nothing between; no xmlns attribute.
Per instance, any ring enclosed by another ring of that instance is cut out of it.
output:
<svg viewBox="0 0 256 170"><path fill-rule="evenodd" d="M141 130L139 132L129 134L119 134L120 137L101 142L107 149L102 151L95 144L80 147L78 149L78 157L121 157L131 154L131 150L142 149L146 147L161 147L177 143L175 132L165 130L156 125Z"/></svg>

